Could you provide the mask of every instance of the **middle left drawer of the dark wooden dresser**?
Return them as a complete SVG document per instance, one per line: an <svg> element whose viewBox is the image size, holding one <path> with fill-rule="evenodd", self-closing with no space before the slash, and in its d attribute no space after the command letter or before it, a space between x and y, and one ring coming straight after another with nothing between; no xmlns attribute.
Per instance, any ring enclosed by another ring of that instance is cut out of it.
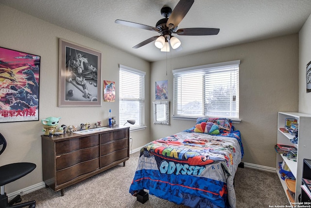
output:
<svg viewBox="0 0 311 208"><path fill-rule="evenodd" d="M75 164L99 157L99 146L72 151L56 156L56 170L62 170Z"/></svg>

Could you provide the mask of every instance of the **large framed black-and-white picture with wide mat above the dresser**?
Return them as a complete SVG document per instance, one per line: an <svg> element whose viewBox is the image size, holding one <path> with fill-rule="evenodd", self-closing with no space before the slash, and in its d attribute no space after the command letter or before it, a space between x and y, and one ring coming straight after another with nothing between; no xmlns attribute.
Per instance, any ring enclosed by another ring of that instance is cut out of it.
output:
<svg viewBox="0 0 311 208"><path fill-rule="evenodd" d="M58 106L101 106L101 53L59 39Z"/></svg>

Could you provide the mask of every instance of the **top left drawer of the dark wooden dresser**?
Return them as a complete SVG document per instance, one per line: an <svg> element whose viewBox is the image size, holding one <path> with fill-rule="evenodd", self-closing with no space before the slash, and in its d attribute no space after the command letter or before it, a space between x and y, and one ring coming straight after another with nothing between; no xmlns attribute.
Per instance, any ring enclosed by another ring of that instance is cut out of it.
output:
<svg viewBox="0 0 311 208"><path fill-rule="evenodd" d="M85 136L55 143L56 154L64 154L75 150L99 145L99 136Z"/></svg>

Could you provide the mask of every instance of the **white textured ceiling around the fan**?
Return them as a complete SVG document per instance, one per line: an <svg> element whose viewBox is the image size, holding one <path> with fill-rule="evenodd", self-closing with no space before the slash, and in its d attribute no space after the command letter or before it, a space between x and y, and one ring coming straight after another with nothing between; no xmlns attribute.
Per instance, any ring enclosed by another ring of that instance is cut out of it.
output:
<svg viewBox="0 0 311 208"><path fill-rule="evenodd" d="M132 47L157 32L116 24L122 19L155 27L163 6L179 0L0 0L39 19L96 39L148 61L180 57L225 46L299 32L311 0L194 0L178 28L220 28L216 36L178 36L183 50L160 52L154 43Z"/></svg>

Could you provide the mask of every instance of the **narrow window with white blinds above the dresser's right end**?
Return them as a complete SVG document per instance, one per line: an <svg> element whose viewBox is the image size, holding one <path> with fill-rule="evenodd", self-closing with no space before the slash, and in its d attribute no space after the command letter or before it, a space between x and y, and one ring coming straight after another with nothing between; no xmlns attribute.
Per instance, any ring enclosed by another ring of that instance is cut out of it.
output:
<svg viewBox="0 0 311 208"><path fill-rule="evenodd" d="M135 120L131 129L143 127L145 123L145 72L120 65L120 125Z"/></svg>

